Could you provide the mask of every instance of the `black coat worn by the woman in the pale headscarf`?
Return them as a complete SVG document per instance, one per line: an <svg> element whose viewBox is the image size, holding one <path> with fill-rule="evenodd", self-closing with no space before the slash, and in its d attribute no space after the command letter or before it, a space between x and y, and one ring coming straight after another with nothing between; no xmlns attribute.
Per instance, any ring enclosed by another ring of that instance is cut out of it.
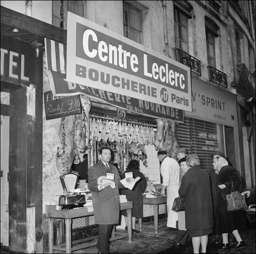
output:
<svg viewBox="0 0 256 254"><path fill-rule="evenodd" d="M235 229L242 230L246 228L244 210L228 211L226 194L231 193L231 187L238 189L241 180L235 169L231 166L223 166L216 179L216 214L214 220L215 232L217 234L231 233ZM226 188L220 189L218 186L225 184Z"/></svg>

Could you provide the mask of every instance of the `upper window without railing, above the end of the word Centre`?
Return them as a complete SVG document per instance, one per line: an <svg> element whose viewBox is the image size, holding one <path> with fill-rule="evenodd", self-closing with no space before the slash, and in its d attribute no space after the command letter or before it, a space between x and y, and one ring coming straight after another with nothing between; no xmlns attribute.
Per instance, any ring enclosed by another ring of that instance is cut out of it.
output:
<svg viewBox="0 0 256 254"><path fill-rule="evenodd" d="M123 2L124 36L142 44L142 11Z"/></svg>

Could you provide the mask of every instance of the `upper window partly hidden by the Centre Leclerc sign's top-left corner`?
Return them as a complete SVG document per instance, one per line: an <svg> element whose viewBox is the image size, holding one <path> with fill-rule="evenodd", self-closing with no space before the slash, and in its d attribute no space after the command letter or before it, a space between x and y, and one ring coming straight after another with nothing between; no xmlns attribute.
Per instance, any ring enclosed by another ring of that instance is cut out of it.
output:
<svg viewBox="0 0 256 254"><path fill-rule="evenodd" d="M67 29L68 11L84 17L85 1L52 1L52 23Z"/></svg>

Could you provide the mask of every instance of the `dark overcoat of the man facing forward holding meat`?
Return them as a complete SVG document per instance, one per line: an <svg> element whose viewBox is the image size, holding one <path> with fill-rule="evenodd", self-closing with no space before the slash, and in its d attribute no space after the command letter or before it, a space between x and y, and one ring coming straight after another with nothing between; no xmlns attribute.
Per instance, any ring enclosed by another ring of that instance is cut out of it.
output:
<svg viewBox="0 0 256 254"><path fill-rule="evenodd" d="M100 160L88 170L88 188L92 193L92 206L94 209L95 224L111 225L117 224L119 221L119 187L124 187L119 181L121 180L117 168L109 164L110 173L114 174L114 182L116 188L108 186L98 191L97 179L100 176L107 176L107 168Z"/></svg>

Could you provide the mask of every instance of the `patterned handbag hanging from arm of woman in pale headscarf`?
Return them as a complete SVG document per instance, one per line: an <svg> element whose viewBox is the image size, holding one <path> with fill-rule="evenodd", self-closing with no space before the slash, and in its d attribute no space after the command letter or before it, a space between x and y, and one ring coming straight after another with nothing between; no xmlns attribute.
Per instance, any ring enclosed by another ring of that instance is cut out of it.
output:
<svg viewBox="0 0 256 254"><path fill-rule="evenodd" d="M236 211L247 208L244 195L238 191L235 191L233 182L231 194L226 195L226 200L228 202L228 211Z"/></svg>

